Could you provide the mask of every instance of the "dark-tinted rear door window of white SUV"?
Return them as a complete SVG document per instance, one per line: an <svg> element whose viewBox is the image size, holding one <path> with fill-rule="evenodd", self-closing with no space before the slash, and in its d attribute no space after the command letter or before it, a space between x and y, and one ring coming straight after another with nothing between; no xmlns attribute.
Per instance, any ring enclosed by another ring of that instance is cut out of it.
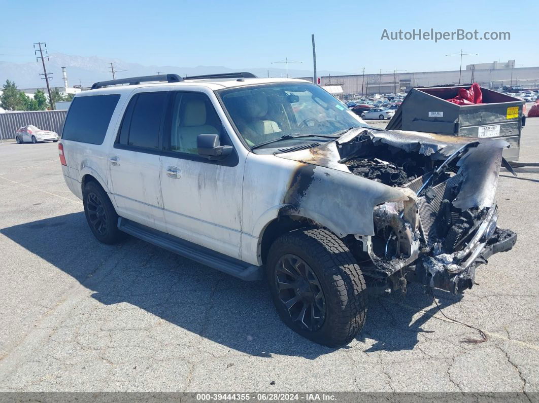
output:
<svg viewBox="0 0 539 403"><path fill-rule="evenodd" d="M135 95L123 117L119 143L157 150L167 96L166 92Z"/></svg>

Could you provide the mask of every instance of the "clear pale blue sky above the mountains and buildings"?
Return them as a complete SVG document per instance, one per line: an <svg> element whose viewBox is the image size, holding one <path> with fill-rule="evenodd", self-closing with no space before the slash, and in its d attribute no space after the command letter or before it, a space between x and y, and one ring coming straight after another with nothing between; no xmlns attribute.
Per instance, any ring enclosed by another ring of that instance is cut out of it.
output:
<svg viewBox="0 0 539 403"><path fill-rule="evenodd" d="M32 44L49 51L118 58L143 65L319 69L367 73L453 70L516 59L539 66L539 3L534 1L5 1L0 0L0 60L35 61ZM528 19L526 16L530 16ZM508 31L510 40L381 40L384 29Z"/></svg>

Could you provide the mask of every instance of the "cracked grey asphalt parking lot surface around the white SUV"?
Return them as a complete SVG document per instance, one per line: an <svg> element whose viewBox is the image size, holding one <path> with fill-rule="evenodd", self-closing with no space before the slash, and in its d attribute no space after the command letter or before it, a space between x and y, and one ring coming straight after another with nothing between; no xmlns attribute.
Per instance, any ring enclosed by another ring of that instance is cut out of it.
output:
<svg viewBox="0 0 539 403"><path fill-rule="evenodd" d="M387 121L376 126L384 127ZM520 162L539 161L539 118ZM371 299L360 336L293 333L264 282L134 238L98 243L54 143L0 144L2 391L539 391L539 168L502 169L499 225L518 234L464 296Z"/></svg>

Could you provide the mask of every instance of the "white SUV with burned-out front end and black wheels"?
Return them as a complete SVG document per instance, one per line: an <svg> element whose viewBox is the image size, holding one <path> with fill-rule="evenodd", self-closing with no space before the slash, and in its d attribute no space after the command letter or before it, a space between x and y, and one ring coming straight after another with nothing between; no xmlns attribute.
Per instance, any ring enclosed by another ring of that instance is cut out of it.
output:
<svg viewBox="0 0 539 403"><path fill-rule="evenodd" d="M336 347L361 330L367 290L461 293L513 247L496 226L505 147L375 129L312 83L233 73L95 83L59 153L99 241L265 277L289 327Z"/></svg>

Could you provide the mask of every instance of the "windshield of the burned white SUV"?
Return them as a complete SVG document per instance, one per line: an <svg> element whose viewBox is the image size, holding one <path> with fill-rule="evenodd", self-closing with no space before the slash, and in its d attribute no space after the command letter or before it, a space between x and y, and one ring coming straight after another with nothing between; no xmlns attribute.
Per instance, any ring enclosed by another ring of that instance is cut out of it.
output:
<svg viewBox="0 0 539 403"><path fill-rule="evenodd" d="M272 147L273 140L278 142L281 138L283 142L308 142L320 136L337 137L353 127L368 127L314 84L272 83L217 93L240 135L251 147L262 143L270 143L267 147Z"/></svg>

